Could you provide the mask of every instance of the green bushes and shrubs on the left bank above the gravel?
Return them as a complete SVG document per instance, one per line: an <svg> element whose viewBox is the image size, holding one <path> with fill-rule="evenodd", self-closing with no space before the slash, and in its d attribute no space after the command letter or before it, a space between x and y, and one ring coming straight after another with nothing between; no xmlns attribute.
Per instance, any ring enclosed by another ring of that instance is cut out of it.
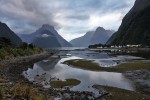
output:
<svg viewBox="0 0 150 100"><path fill-rule="evenodd" d="M28 56L42 52L32 44L22 43L19 46L11 44L9 39L0 38L0 59L9 59L18 56Z"/></svg>

